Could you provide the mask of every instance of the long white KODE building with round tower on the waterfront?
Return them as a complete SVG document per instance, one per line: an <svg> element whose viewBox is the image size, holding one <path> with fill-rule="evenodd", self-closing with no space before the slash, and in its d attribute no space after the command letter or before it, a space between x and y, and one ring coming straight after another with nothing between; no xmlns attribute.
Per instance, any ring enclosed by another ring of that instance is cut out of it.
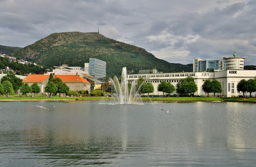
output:
<svg viewBox="0 0 256 167"><path fill-rule="evenodd" d="M237 83L241 79L255 79L256 70L243 70L242 57L226 58L227 70L216 72L179 72L179 73L147 73L147 74L129 74L127 80L130 83L136 82L140 77L144 78L145 82L151 82L154 86L154 93L151 95L163 95L163 92L157 91L157 86L161 81L171 82L175 88L178 82L185 79L188 76L194 78L195 83L198 86L198 91L195 95L206 96L207 93L202 91L202 85L206 80L216 79L222 84L222 93L217 95L224 95L224 97L232 97L243 95L243 92L237 92ZM173 94L177 94L174 92ZM252 93L253 94L253 93ZM248 93L249 95L249 93ZM209 94L213 96L213 94Z"/></svg>

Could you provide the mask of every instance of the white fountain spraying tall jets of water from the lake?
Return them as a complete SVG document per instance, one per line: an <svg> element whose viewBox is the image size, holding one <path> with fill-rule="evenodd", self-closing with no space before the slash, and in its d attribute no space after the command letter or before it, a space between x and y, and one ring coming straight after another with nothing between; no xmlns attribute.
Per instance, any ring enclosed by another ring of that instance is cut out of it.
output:
<svg viewBox="0 0 256 167"><path fill-rule="evenodd" d="M122 70L122 80L121 83L118 82L118 78L115 76L114 81L110 79L112 82L112 86L114 88L113 94L106 94L105 96L111 97L112 104L143 104L141 95L138 94L138 91L135 90L136 83L132 83L131 91L128 88L128 81L127 81L127 71L126 67L123 67ZM140 87L138 88L140 90Z"/></svg>

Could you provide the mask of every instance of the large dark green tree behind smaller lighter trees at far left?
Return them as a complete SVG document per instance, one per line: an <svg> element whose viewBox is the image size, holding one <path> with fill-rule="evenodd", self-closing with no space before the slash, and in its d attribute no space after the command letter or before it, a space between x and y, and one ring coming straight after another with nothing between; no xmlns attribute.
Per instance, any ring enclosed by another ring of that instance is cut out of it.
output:
<svg viewBox="0 0 256 167"><path fill-rule="evenodd" d="M10 81L10 83L13 86L13 90L14 90L15 93L17 93L20 86L23 85L22 79L16 77L15 74L12 71L10 71L9 74L2 77L1 83L3 83L4 81Z"/></svg>

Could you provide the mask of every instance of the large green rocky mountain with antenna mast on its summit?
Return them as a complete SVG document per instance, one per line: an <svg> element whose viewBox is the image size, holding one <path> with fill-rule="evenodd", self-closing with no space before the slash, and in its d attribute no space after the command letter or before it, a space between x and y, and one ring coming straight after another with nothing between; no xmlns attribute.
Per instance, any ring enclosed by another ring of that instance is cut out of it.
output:
<svg viewBox="0 0 256 167"><path fill-rule="evenodd" d="M143 48L106 38L97 32L54 33L12 55L52 67L64 63L84 67L89 58L96 58L106 61L108 76L120 76L124 66L133 73L150 68L156 68L158 72L193 71L193 64L169 63Z"/></svg>

